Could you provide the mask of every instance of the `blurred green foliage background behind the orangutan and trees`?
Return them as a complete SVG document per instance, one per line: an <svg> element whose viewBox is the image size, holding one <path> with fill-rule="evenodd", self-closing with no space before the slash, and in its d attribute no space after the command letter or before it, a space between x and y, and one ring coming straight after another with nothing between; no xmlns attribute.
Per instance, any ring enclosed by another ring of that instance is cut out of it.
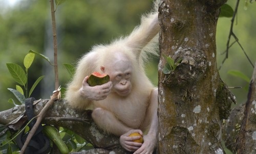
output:
<svg viewBox="0 0 256 154"><path fill-rule="evenodd" d="M51 12L49 1L0 0L0 111L13 107L8 102L14 95L7 89L15 89L6 63L16 63L23 66L23 59L30 49L43 54L53 61ZM234 8L236 1L228 1ZM234 33L239 38L245 52L252 63L256 61L256 19L255 5L240 3ZM90 48L99 43L109 43L119 36L130 34L135 25L140 22L140 15L150 11L151 0L76 0L66 1L56 10L58 65L60 85L65 87L71 79L63 67L63 63L75 64ZM220 18L217 28L217 64L220 66L225 55L227 37L231 18ZM231 41L233 42L233 40ZM157 85L158 58L153 57L147 65L147 74ZM236 69L251 78L252 66L246 59L238 44L229 50L229 58L220 69L220 75L230 87L246 87L248 83L227 72ZM54 71L48 62L36 56L29 69L29 87L40 76L45 78L32 93L36 99L50 98L54 90ZM231 89L236 95L238 104L245 102L247 89ZM14 99L17 101L16 99Z"/></svg>

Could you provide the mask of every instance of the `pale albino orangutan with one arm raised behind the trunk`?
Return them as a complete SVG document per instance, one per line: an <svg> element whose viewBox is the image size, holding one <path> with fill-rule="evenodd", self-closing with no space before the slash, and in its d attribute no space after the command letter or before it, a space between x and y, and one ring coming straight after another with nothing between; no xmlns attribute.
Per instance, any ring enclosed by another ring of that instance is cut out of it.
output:
<svg viewBox="0 0 256 154"><path fill-rule="evenodd" d="M120 144L134 153L152 153L157 142L158 89L144 71L148 53L157 55L157 5L142 16L141 24L124 38L108 45L96 45L78 62L74 79L68 84L66 100L77 109L93 108L95 123L105 132L120 136ZM88 75L109 74L110 82L91 87ZM143 143L129 137L137 132Z"/></svg>

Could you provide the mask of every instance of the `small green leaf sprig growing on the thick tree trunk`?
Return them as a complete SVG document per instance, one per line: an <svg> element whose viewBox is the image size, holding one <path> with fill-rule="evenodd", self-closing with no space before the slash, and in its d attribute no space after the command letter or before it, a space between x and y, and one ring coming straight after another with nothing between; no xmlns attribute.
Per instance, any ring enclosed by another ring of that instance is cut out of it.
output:
<svg viewBox="0 0 256 154"><path fill-rule="evenodd" d="M177 62L175 62L172 58L167 57L163 55L163 58L166 60L166 64L163 67L163 73L164 74L169 74L173 72L177 66L179 66L180 62L182 59L179 59Z"/></svg>

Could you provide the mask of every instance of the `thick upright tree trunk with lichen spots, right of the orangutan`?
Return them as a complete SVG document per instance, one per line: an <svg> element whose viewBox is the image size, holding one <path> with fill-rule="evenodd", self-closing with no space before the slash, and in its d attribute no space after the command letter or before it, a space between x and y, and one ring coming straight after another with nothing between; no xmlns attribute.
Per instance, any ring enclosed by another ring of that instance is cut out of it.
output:
<svg viewBox="0 0 256 154"><path fill-rule="evenodd" d="M160 5L159 153L224 153L221 121L234 101L216 65L216 25L225 2ZM182 62L164 74L163 55Z"/></svg>

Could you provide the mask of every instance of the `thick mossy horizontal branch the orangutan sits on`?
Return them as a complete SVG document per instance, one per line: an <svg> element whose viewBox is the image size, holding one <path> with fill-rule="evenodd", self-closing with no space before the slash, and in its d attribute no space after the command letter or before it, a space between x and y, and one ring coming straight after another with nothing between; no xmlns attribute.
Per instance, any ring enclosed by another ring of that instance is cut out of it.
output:
<svg viewBox="0 0 256 154"><path fill-rule="evenodd" d="M42 108L46 106L48 101L49 99L42 99L39 100L36 104L36 101L34 101L34 115L38 115L41 112ZM22 118L20 118L20 116L23 115L24 111L25 105L21 105L0 112L0 117L5 117L0 118L0 124L8 125L9 129L15 128L15 130L18 130L22 126L20 122L26 122L26 120L24 120L26 119L26 117L23 116ZM74 131L83 139L93 144L94 148L97 148L96 151L114 151L115 153L127 153L127 151L125 151L120 146L119 137L106 134L102 130L100 130L98 126L94 123L91 114L92 110L75 110L69 106L67 101L56 100L54 101L53 106L50 107L47 111L47 114L42 120L42 123L65 127L69 130ZM90 152L94 153L91 150L84 151L83 153Z"/></svg>

